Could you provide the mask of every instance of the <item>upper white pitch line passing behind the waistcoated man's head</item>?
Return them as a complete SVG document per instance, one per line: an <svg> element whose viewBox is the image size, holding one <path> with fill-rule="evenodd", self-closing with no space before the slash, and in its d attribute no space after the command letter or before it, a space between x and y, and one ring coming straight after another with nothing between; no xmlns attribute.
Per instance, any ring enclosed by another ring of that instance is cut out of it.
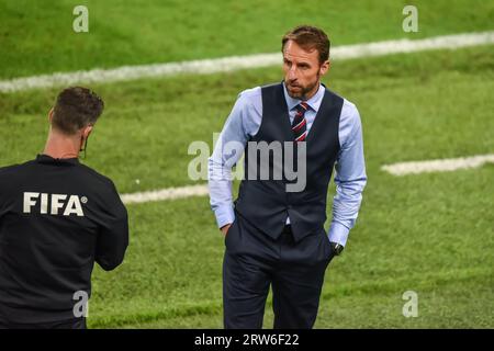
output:
<svg viewBox="0 0 494 351"><path fill-rule="evenodd" d="M382 56L397 53L412 53L430 49L456 49L459 47L494 44L494 32L462 33L436 36L424 39L398 39L356 45L337 46L332 49L332 59ZM207 75L227 72L246 68L259 68L281 64L281 54L258 54L231 56L215 59L200 59L181 63L122 66L112 69L91 69L86 71L57 72L52 75L0 80L0 92L14 92L27 89L67 87L98 82L117 82L141 78L158 78L178 73Z"/></svg>

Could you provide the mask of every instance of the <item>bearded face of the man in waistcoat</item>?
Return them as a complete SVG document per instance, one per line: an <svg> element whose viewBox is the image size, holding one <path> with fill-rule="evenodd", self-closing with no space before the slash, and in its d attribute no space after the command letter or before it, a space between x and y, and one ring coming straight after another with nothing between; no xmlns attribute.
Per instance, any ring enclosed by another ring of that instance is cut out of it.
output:
<svg viewBox="0 0 494 351"><path fill-rule="evenodd" d="M284 84L290 97L299 100L312 98L319 88L319 79L327 72L329 61L319 63L316 49L305 50L293 41L283 49Z"/></svg>

